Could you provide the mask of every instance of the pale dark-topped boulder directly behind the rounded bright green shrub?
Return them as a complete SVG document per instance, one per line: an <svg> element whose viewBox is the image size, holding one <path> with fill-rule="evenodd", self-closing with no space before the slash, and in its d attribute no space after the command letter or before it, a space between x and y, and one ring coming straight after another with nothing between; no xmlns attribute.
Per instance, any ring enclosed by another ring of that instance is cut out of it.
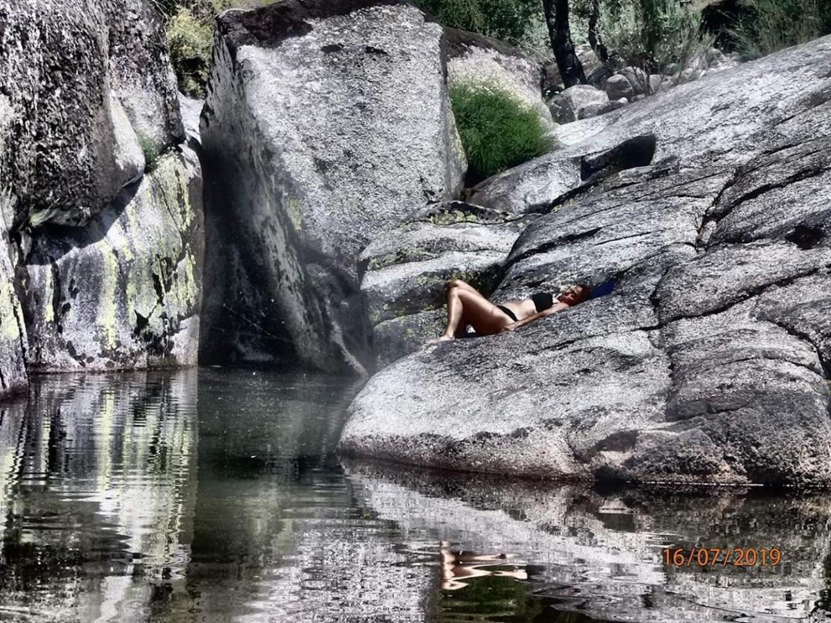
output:
<svg viewBox="0 0 831 623"><path fill-rule="evenodd" d="M445 28L447 75L455 83L490 84L537 110L543 127L555 124L543 101L543 61L504 42L474 32Z"/></svg>

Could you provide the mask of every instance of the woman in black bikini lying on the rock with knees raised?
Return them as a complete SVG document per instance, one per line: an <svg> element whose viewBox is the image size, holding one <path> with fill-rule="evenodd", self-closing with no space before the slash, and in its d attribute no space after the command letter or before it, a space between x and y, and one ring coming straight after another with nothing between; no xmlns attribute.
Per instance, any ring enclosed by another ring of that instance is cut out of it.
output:
<svg viewBox="0 0 831 623"><path fill-rule="evenodd" d="M523 301L494 305L475 287L458 279L447 284L447 328L439 339L453 340L464 336L467 326L473 326L480 336L494 336L503 331L514 331L539 318L562 312L588 298L591 288L573 286L558 297L548 292L537 292Z"/></svg>

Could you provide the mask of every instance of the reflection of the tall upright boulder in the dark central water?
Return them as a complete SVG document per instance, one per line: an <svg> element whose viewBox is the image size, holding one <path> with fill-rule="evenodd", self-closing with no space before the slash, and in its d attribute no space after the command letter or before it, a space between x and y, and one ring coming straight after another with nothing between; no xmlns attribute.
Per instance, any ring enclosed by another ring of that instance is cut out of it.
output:
<svg viewBox="0 0 831 623"><path fill-rule="evenodd" d="M200 372L187 584L211 621L423 621L435 570L405 564L397 528L356 508L331 463L356 390Z"/></svg>

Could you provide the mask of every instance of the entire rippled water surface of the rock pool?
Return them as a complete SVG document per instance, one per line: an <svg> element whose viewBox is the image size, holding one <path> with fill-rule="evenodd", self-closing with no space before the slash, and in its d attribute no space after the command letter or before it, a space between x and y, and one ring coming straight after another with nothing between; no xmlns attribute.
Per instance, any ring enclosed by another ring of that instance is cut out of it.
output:
<svg viewBox="0 0 831 623"><path fill-rule="evenodd" d="M0 405L0 621L826 621L831 498L337 459L358 387L40 377ZM666 547L779 548L666 566Z"/></svg>

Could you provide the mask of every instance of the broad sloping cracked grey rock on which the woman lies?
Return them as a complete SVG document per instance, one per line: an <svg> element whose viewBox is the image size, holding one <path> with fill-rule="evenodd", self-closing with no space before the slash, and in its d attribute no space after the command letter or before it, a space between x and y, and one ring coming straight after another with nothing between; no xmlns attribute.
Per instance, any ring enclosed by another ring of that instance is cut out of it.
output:
<svg viewBox="0 0 831 623"><path fill-rule="evenodd" d="M397 361L352 403L342 451L543 478L831 483L828 76L831 38L612 113L565 148L581 173L514 244L494 297L611 294ZM717 110L691 97L705 85ZM647 129L654 164L585 177L587 158Z"/></svg>

